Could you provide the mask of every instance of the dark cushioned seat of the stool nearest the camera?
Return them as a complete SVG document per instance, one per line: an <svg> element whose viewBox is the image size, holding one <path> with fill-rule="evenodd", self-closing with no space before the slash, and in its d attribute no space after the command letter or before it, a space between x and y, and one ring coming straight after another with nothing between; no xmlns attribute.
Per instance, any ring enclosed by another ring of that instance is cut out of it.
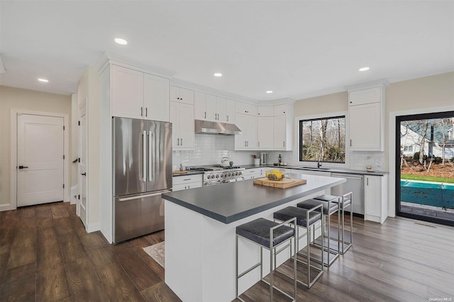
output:
<svg viewBox="0 0 454 302"><path fill-rule="evenodd" d="M294 217L294 216L292 216ZM249 223L238 225L236 227L236 233L242 237L245 237L263 247L270 247L270 228L279 225L274 221L267 220L265 218L258 218ZM294 235L294 229L287 225L273 230L273 242L272 246L279 245L279 243L289 239Z"/></svg>

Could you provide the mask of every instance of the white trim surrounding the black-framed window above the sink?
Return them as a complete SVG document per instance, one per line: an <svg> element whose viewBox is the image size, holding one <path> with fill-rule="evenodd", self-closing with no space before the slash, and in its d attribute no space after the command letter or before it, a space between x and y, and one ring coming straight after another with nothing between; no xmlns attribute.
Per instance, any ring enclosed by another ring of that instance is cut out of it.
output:
<svg viewBox="0 0 454 302"><path fill-rule="evenodd" d="M345 162L322 162L322 163L323 163L323 167L326 167L326 168L345 169L345 168L350 167L350 146L347 143L350 140L350 133L348 131L348 111L320 113L320 114L314 114L311 116L295 117L294 133L295 133L295 142L297 143L297 148L296 148L297 152L294 152L294 162L295 163L301 164L302 167L317 167L316 161L299 160L299 155L301 154L301 142L299 140L299 138L300 138L300 133L299 133L300 121L320 120L323 118L336 118L336 117L340 117L340 116L345 117Z"/></svg>

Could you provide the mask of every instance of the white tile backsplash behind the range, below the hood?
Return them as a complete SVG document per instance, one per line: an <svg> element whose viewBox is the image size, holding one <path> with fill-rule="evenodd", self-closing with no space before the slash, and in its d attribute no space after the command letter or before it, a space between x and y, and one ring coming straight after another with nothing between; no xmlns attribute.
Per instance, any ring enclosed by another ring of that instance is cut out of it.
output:
<svg viewBox="0 0 454 302"><path fill-rule="evenodd" d="M235 151L235 137L233 135L195 135L195 148L191 151L173 151L173 169L179 164L183 167L206 164L221 164L222 157L228 157L229 162L235 165L254 164L253 155L260 157L260 152L266 152L268 163L277 162L279 154L282 162L292 162L292 151Z"/></svg>

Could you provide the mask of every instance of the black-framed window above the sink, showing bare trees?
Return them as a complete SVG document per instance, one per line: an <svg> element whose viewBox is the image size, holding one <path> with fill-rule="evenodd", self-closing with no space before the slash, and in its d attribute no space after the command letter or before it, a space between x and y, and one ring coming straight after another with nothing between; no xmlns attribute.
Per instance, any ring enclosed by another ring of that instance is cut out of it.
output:
<svg viewBox="0 0 454 302"><path fill-rule="evenodd" d="M345 116L300 120L299 160L345 163Z"/></svg>

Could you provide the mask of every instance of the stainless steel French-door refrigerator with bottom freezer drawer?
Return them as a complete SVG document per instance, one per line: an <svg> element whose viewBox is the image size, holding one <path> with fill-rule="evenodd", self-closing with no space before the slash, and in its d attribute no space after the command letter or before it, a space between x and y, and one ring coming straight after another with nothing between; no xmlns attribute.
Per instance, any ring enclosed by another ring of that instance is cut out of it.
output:
<svg viewBox="0 0 454 302"><path fill-rule="evenodd" d="M164 229L161 194L172 188L172 123L117 117L112 123L117 243Z"/></svg>

